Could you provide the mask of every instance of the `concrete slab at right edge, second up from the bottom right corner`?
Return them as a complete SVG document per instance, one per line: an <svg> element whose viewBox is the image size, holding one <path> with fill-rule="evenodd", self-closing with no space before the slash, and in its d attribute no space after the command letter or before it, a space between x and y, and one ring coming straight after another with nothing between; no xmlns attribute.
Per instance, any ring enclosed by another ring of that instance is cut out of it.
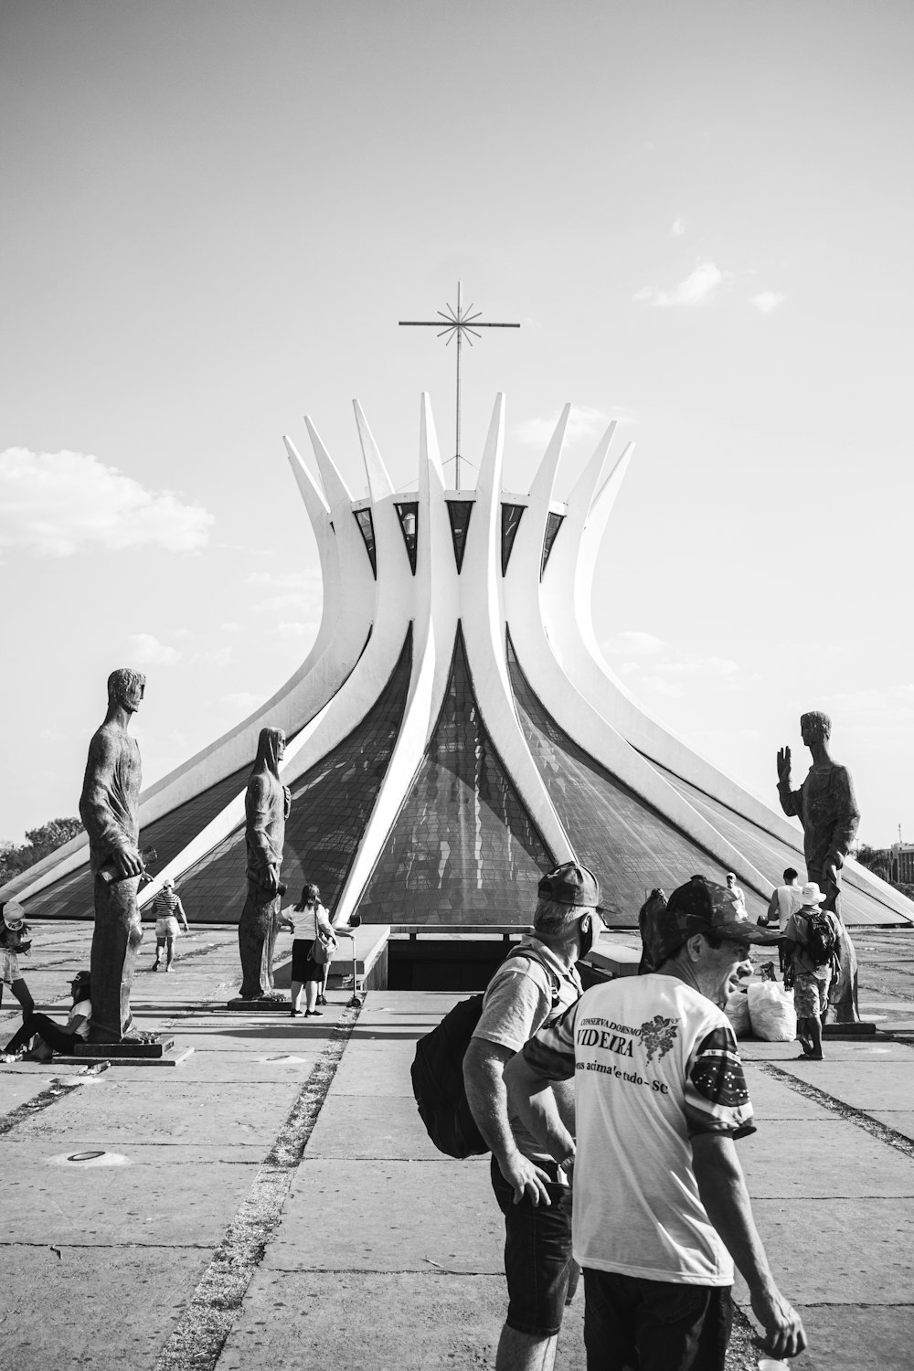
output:
<svg viewBox="0 0 914 1371"><path fill-rule="evenodd" d="M752 1198L752 1212L791 1304L914 1304L914 1198ZM748 1305L740 1278L733 1294Z"/></svg>

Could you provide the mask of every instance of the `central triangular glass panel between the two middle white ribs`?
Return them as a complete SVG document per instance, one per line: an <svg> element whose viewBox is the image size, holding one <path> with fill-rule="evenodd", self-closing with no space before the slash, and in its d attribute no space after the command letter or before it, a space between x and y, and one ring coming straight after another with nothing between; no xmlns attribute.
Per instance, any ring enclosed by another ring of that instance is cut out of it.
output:
<svg viewBox="0 0 914 1371"><path fill-rule="evenodd" d="M489 738L458 628L434 735L359 902L363 923L529 923L551 854Z"/></svg>

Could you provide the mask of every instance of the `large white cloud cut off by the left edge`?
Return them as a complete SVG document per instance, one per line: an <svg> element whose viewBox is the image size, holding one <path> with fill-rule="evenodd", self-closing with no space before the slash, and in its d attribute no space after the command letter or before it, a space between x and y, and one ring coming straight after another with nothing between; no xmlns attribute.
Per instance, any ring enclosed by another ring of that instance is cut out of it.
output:
<svg viewBox="0 0 914 1371"><path fill-rule="evenodd" d="M84 452L0 452L0 548L45 557L89 548L206 547L212 514L173 491L148 491L132 476Z"/></svg>

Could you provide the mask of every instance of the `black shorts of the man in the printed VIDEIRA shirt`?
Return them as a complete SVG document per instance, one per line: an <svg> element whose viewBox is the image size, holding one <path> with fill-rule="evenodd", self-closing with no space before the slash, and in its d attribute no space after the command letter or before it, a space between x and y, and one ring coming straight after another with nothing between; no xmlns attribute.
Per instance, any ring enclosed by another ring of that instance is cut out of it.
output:
<svg viewBox="0 0 914 1371"><path fill-rule="evenodd" d="M586 1371L724 1371L733 1323L730 1289L585 1267Z"/></svg>

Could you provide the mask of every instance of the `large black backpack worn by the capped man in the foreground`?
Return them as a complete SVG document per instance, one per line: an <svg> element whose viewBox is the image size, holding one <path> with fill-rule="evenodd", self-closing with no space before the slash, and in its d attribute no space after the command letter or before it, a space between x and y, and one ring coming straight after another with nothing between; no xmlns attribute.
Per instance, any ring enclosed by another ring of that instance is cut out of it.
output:
<svg viewBox="0 0 914 1371"><path fill-rule="evenodd" d="M510 961L511 957L532 957L533 961L539 961L554 982L555 1010L559 1001L559 980L555 972L530 947L515 947L504 961ZM459 1160L480 1157L489 1150L488 1142L475 1126L463 1086L463 1057L482 1016L484 998L485 991L480 991L448 1010L437 1028L419 1038L410 1068L412 1094L429 1138L439 1152Z"/></svg>

